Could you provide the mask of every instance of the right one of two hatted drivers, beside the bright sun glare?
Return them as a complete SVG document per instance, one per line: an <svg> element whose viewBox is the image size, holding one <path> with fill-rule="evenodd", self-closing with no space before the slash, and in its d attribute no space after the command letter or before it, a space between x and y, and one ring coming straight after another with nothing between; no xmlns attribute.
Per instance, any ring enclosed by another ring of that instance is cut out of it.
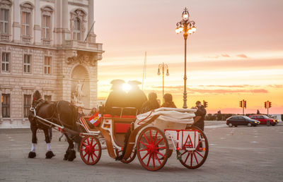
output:
<svg viewBox="0 0 283 182"><path fill-rule="evenodd" d="M139 84L141 84L139 81L129 81L129 85L131 85L131 90L129 90L127 97L129 100L129 107L135 107L137 108L137 113L141 110L142 104L147 101L147 97L144 94L144 91L139 89ZM132 114L130 114L132 115ZM135 114L134 114L135 115Z"/></svg>

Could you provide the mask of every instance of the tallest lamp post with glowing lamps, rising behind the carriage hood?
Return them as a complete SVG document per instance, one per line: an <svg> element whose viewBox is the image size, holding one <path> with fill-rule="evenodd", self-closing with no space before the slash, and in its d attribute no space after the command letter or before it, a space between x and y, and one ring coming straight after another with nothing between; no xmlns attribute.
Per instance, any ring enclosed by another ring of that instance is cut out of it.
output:
<svg viewBox="0 0 283 182"><path fill-rule="evenodd" d="M184 104L183 108L187 109L187 35L194 33L197 28L195 28L195 21L189 19L190 14L187 8L184 9L182 13L182 20L178 22L176 33L184 32L183 37L185 40L185 74L184 74Z"/></svg>

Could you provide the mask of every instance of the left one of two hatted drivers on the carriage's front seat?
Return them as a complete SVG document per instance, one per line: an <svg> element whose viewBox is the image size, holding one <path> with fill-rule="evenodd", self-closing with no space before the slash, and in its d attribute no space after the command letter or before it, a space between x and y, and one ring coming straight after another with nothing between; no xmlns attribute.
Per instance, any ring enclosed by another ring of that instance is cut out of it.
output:
<svg viewBox="0 0 283 182"><path fill-rule="evenodd" d="M110 92L105 102L105 113L112 116L120 116L121 109L112 109L112 107L127 107L127 93L122 90L124 80L112 80L112 92Z"/></svg>

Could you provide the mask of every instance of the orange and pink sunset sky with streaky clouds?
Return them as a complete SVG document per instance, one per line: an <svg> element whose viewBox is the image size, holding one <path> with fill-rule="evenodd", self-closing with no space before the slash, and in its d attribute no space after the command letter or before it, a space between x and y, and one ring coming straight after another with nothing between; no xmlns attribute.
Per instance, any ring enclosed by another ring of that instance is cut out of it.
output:
<svg viewBox="0 0 283 182"><path fill-rule="evenodd" d="M175 33L187 7L197 32L187 40L187 106L208 102L208 113L283 114L282 0L96 1L95 32L103 43L98 63L98 97L107 97L113 79L142 80L144 91L162 100L159 63L167 63L165 92L183 106L184 40ZM141 85L140 85L141 86Z"/></svg>

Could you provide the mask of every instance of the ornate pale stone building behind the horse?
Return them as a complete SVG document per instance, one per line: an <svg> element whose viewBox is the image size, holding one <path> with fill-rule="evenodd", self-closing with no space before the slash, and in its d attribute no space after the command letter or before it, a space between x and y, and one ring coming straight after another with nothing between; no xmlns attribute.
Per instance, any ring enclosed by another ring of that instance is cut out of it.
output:
<svg viewBox="0 0 283 182"><path fill-rule="evenodd" d="M0 128L29 126L35 90L46 100L97 106L103 48L91 29L93 1L0 0Z"/></svg>

